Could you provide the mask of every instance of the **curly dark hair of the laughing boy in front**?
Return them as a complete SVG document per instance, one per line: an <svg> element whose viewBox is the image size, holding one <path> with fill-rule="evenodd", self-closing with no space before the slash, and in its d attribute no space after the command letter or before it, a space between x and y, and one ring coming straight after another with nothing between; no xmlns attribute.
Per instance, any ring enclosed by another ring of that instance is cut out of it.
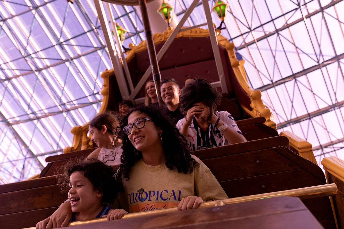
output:
<svg viewBox="0 0 344 229"><path fill-rule="evenodd" d="M93 184L94 189L103 193L101 204L109 205L114 203L119 191L123 191L122 182L118 180L118 176L114 170L97 159L87 159L70 165L63 177L60 185L64 190L69 188L69 178L73 172L84 172L84 176Z"/></svg>

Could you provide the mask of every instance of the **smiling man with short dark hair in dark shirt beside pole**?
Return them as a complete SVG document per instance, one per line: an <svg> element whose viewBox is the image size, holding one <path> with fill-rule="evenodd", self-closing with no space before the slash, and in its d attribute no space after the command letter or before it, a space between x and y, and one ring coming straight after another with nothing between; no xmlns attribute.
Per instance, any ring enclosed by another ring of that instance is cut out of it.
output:
<svg viewBox="0 0 344 229"><path fill-rule="evenodd" d="M173 78L166 78L161 81L160 92L162 101L165 105L162 112L170 117L173 125L176 125L179 119L184 118L184 115L179 111L179 96L180 87L178 82Z"/></svg>

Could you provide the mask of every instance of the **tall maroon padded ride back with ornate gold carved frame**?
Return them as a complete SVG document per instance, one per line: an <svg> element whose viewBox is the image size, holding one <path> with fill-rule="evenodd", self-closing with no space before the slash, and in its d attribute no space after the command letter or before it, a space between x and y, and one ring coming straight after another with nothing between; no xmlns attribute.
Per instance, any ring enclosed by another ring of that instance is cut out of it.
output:
<svg viewBox="0 0 344 229"><path fill-rule="evenodd" d="M161 50L171 33L172 30L168 30L164 33L153 35L157 53ZM269 108L261 101L260 91L252 89L248 84L243 66L245 61L236 58L234 44L230 43L227 38L221 34L217 35L217 41L226 82L224 87L228 91L227 94L223 94L223 99L218 106L218 110L228 111L237 121L250 117L265 117L265 124L276 129L276 124L272 122L272 115ZM133 86L136 87L146 70L149 68L149 56L146 41L142 41L137 46L132 44L129 46L131 50L127 52L126 61L128 63L131 81ZM179 82L181 87L188 77L204 78L210 82L219 81L208 30L203 30L201 28L193 28L179 32L160 59L159 67L162 79L174 78ZM117 103L122 100L122 97L119 92L114 70L110 69L103 71L101 77L104 79L103 90L101 91L104 97L100 113L106 110L117 111ZM151 79L151 76L149 79ZM216 85L218 90L221 91L221 87L219 87L218 84ZM144 97L144 85L142 85L140 92L135 98L138 99L142 97ZM260 127L260 129L265 128ZM265 131L271 132L271 130L267 131L266 129ZM243 132L250 134L249 131ZM92 142L90 142L90 136L88 136L88 123L83 126L73 127L72 133L74 134L73 144L71 147L66 147L64 153L93 147ZM254 131L252 133L254 133ZM258 132L255 132L255 134L259 135ZM264 136L271 137L268 135ZM272 136L276 136L275 133ZM316 163L311 145L308 142L301 139L305 144L300 145L300 139L294 141L295 136L290 136L289 133L286 134L286 136L290 139L291 143L295 142L295 144L290 145L292 150L299 153L301 156L304 156L304 153L300 153L302 150L308 150L309 156L305 158ZM248 140L263 138L255 136L245 137Z"/></svg>

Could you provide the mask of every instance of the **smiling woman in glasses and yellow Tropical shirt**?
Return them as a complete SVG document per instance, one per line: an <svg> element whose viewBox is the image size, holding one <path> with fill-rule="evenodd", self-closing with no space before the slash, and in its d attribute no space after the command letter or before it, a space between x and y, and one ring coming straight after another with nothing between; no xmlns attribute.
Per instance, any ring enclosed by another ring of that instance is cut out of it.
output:
<svg viewBox="0 0 344 229"><path fill-rule="evenodd" d="M183 136L159 110L137 107L120 122L122 176L129 211L178 206L228 198L214 175L190 154Z"/></svg>

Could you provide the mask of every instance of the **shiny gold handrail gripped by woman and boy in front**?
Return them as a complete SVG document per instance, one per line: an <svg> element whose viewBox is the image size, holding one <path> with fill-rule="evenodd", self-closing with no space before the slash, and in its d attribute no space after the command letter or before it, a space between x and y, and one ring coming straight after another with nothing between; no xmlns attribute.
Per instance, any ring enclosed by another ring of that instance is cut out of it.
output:
<svg viewBox="0 0 344 229"><path fill-rule="evenodd" d="M296 188L296 189L279 191L279 192L262 193L262 194L251 195L251 196L240 196L240 197L235 197L235 198L223 199L222 201L225 202L226 204L234 204L234 203L254 201L257 199L271 198L271 197L277 197L277 196L293 196L293 197L299 197L300 199L310 199L310 198L331 196L331 195L336 195L336 194L338 194L338 189L337 189L336 184L324 184L324 185ZM216 201L203 202L200 205L198 205L197 208L214 207L216 202L218 201L216 200ZM157 210L151 210L151 211L140 211L140 212L125 214L122 216L122 219L140 217L140 216L152 216L152 215L157 215L157 214L162 214L162 213L171 213L174 211L178 211L177 207L170 207L170 208L157 209ZM106 221L106 217L70 222L68 226L77 226L77 225L91 224L94 222L103 222L103 221ZM24 228L24 229L35 229L35 227Z"/></svg>

